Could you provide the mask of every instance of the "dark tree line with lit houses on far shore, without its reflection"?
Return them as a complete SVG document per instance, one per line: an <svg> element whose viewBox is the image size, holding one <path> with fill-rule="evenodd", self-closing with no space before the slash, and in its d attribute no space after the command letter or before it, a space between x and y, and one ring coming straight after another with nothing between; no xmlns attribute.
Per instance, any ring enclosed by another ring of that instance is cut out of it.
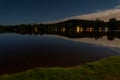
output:
<svg viewBox="0 0 120 80"><path fill-rule="evenodd" d="M95 21L68 20L55 24L19 24L13 26L0 25L0 32L54 33L64 31L74 32L76 31L76 29L81 29L81 31L87 31L88 29L91 29L92 31L104 31L106 28L108 30L120 30L120 21L116 20L116 18L112 18L109 20L109 22L104 22L99 19L96 19Z"/></svg>

